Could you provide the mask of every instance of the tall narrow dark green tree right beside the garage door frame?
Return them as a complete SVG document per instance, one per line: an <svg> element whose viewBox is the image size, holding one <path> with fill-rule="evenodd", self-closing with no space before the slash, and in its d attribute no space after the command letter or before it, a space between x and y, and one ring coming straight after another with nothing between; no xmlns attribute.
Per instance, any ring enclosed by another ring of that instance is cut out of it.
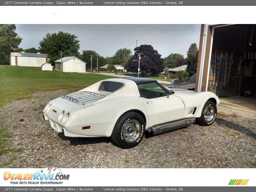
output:
<svg viewBox="0 0 256 192"><path fill-rule="evenodd" d="M196 43L192 43L187 51L187 58L186 58L186 71L189 73L191 77L197 72L197 59L198 59L198 48Z"/></svg>

